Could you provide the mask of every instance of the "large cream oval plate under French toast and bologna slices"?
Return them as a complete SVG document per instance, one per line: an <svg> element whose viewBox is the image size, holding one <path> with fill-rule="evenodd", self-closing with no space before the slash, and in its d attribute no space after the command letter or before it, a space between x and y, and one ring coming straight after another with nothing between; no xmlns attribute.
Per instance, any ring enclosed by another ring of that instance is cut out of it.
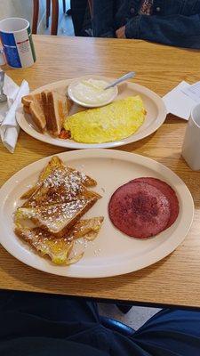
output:
<svg viewBox="0 0 200 356"><path fill-rule="evenodd" d="M91 216L104 216L99 236L90 242L84 257L69 266L54 265L18 239L13 232L13 213L20 196L36 182L50 158L43 158L14 174L0 190L0 242L14 257L40 271L78 278L100 278L138 271L156 263L180 245L193 221L194 203L181 179L153 159L119 150L76 150L59 157L68 165L97 181L95 190L102 198L90 210ZM155 177L176 192L180 212L175 223L150 239L133 239L116 230L108 218L108 201L125 182L138 177ZM85 215L88 216L88 213Z"/></svg>

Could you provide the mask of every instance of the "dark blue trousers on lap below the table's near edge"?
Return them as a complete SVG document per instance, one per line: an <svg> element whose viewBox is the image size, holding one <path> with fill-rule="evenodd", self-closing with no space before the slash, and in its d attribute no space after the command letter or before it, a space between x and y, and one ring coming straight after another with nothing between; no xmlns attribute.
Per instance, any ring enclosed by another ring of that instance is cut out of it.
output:
<svg viewBox="0 0 200 356"><path fill-rule="evenodd" d="M0 293L1 356L199 356L200 312L164 310L122 336L100 325L96 303Z"/></svg>

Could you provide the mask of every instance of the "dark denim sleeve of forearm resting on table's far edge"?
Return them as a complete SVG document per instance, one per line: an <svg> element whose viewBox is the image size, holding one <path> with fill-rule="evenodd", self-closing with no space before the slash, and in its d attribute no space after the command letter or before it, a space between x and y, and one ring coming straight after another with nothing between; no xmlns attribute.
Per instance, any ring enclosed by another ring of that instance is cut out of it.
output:
<svg viewBox="0 0 200 356"><path fill-rule="evenodd" d="M161 44L200 48L200 14L164 17L139 15L126 24L124 35Z"/></svg>

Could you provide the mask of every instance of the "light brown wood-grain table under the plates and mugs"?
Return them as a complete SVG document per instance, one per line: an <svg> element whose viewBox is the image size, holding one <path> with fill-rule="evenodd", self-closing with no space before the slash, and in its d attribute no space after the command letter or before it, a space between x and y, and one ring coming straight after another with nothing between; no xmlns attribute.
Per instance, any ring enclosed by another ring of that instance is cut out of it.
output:
<svg viewBox="0 0 200 356"><path fill-rule="evenodd" d="M200 53L143 41L34 36L37 61L29 69L7 69L20 85L31 89L63 78L86 74L118 77L135 70L135 82L164 95L181 80L199 80ZM0 248L0 287L25 291L83 295L134 303L200 307L200 173L192 172L180 151L186 123L173 116L148 138L119 150L137 152L168 166L186 182L195 200L196 214L187 239L164 258L144 270L107 279L69 279L36 271ZM12 155L0 146L0 184L39 158L62 148L36 141L20 131Z"/></svg>

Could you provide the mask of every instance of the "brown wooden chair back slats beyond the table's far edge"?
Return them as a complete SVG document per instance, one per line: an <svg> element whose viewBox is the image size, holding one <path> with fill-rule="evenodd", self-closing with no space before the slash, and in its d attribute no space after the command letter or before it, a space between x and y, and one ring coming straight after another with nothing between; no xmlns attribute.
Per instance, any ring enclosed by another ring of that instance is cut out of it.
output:
<svg viewBox="0 0 200 356"><path fill-rule="evenodd" d="M46 28L49 27L52 4L52 28L51 35L57 35L59 23L59 0L46 0ZM63 12L66 13L66 0L62 0ZM39 16L39 0L33 0L33 25L32 33L36 34Z"/></svg>

